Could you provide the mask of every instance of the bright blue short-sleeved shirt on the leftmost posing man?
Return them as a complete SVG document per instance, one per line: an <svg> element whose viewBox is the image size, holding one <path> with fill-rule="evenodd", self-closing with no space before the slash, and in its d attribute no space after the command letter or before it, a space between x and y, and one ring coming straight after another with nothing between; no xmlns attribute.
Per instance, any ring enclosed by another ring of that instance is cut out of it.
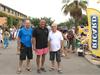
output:
<svg viewBox="0 0 100 75"><path fill-rule="evenodd" d="M20 42L22 42L26 47L32 47L32 33L33 29L30 28L21 28L18 34L18 37L20 38Z"/></svg>

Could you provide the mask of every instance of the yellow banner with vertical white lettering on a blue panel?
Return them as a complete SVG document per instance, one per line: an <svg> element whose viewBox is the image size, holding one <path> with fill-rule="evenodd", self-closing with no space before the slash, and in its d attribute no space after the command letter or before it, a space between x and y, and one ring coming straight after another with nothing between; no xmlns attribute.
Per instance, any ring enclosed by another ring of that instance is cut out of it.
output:
<svg viewBox="0 0 100 75"><path fill-rule="evenodd" d="M89 25L89 48L96 56L100 56L100 11L87 8Z"/></svg>

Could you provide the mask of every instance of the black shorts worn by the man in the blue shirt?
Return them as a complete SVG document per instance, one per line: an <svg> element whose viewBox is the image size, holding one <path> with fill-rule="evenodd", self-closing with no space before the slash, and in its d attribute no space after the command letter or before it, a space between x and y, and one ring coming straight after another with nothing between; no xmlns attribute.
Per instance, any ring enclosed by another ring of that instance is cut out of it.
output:
<svg viewBox="0 0 100 75"><path fill-rule="evenodd" d="M32 48L31 47L25 47L23 49L20 49L20 60L26 60L33 58Z"/></svg>

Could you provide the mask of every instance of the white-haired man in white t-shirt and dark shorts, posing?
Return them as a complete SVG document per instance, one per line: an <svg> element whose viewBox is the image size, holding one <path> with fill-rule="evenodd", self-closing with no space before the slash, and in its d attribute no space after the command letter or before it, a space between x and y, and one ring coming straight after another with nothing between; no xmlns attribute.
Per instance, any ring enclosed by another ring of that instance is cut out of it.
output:
<svg viewBox="0 0 100 75"><path fill-rule="evenodd" d="M52 24L52 30L49 33L49 49L50 49L50 61L51 61L51 69L55 69L55 58L58 66L58 72L61 73L60 62L61 62L61 48L63 47L63 36L60 31L57 30L57 24Z"/></svg>

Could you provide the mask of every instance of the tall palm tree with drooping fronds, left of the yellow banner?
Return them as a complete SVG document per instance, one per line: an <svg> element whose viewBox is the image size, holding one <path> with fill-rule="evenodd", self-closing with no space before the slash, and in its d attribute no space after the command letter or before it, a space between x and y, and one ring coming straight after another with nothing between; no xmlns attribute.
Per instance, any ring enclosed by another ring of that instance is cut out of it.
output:
<svg viewBox="0 0 100 75"><path fill-rule="evenodd" d="M70 16L74 18L75 27L77 29L78 21L81 19L81 16L82 16L82 10L86 10L86 8L87 8L87 1L74 0L71 3L68 1L63 6L62 10L63 10L65 15L67 15L69 13Z"/></svg>

